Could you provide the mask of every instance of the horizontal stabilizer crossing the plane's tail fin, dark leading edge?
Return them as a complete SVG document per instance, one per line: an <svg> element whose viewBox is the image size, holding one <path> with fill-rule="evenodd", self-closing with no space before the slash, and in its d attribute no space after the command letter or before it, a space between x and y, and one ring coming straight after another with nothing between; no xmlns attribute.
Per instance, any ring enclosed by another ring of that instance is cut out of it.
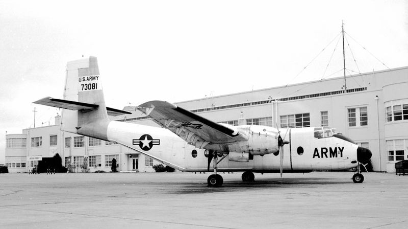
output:
<svg viewBox="0 0 408 229"><path fill-rule="evenodd" d="M35 101L36 104L41 104L45 106L52 106L57 108L63 108L68 110L85 110L85 109L95 109L99 107L97 104L91 103L81 103L77 101L70 101L70 100L63 100L63 99L54 99L51 97L45 97L38 101ZM114 108L107 107L109 116L119 116L121 114L132 114L131 112L127 112L124 110L118 110Z"/></svg>

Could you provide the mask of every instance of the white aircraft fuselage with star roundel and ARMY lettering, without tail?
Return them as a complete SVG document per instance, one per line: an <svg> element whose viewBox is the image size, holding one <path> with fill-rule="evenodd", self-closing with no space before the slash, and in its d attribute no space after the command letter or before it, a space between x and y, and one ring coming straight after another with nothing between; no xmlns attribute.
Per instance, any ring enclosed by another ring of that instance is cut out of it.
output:
<svg viewBox="0 0 408 229"><path fill-rule="evenodd" d="M107 128L109 141L118 142L149 155L165 165L188 172L208 170L206 149L187 144L165 128L116 121L110 122ZM288 130L289 144L283 146L284 172L346 170L357 166L358 145L335 136L318 138L314 130L313 127ZM208 148L211 149L211 146ZM230 155L226 155L225 152L222 154L220 151L219 159L224 155L225 158L217 165L217 171L278 172L279 156L275 154L252 155L248 162L236 162L230 161Z"/></svg>

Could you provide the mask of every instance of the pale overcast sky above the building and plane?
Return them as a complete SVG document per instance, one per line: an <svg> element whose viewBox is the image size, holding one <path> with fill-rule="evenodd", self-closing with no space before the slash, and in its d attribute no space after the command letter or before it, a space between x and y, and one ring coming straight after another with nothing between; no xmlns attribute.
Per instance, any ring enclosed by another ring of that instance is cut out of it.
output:
<svg viewBox="0 0 408 229"><path fill-rule="evenodd" d="M60 111L32 102L62 98L66 62L83 55L119 109L341 76L342 20L350 73L408 65L402 0L106 2L0 0L0 164L34 107L36 126L54 124Z"/></svg>

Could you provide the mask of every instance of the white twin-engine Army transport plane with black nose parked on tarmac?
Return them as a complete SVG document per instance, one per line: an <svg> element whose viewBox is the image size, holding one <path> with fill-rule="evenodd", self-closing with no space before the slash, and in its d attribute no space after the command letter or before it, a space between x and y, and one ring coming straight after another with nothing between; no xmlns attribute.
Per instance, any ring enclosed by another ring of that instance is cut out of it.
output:
<svg viewBox="0 0 408 229"><path fill-rule="evenodd" d="M222 185L217 172L243 172L242 180L252 181L254 172L347 170L371 158L370 150L331 128L232 126L164 101L138 106L164 128L111 121L108 116L130 112L106 107L96 57L68 62L63 99L34 103L63 108L63 131L117 142L180 171L211 170L209 186ZM353 181L363 182L357 171Z"/></svg>

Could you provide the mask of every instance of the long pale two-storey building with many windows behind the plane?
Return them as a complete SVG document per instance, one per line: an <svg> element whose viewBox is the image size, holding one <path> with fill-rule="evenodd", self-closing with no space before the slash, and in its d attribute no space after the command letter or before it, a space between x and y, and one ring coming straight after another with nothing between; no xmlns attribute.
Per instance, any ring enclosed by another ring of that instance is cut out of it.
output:
<svg viewBox="0 0 408 229"><path fill-rule="evenodd" d="M305 82L237 94L175 103L207 119L238 125L279 128L330 126L373 153L374 171L395 172L394 164L408 159L408 66L346 77ZM114 120L156 125L135 107ZM59 123L60 118L56 118ZM43 157L59 153L75 171L110 170L117 159L120 171L154 171L152 158L120 145L59 130L59 125L24 129L6 135L6 164L10 172L27 172ZM84 162L85 160L85 162Z"/></svg>

